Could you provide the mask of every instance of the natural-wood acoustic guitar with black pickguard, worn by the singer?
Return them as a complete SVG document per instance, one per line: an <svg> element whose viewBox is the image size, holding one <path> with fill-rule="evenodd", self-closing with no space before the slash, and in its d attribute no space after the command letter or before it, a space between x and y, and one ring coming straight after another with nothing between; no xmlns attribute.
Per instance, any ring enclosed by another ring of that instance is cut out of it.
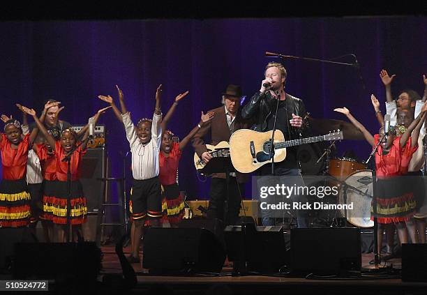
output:
<svg viewBox="0 0 427 295"><path fill-rule="evenodd" d="M270 146L273 130L257 132L250 129L240 129L230 137L230 156L234 168L241 173L250 173L262 165L271 162ZM285 141L282 131L274 133L274 162L281 162L286 158L286 148L343 139L343 131L329 133L315 137L293 139Z"/></svg>

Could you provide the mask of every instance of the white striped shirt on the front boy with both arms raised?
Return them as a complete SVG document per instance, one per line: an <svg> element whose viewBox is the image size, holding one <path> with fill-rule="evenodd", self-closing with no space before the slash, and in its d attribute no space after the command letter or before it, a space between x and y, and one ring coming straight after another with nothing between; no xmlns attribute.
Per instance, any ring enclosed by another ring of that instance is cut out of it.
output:
<svg viewBox="0 0 427 295"><path fill-rule="evenodd" d="M136 135L135 126L130 113L122 114L123 125L126 130L130 152L132 153L132 174L133 179L144 180L158 176L159 173L159 153L162 143L162 128L160 122L162 115L153 114L153 123L151 124L151 140L147 144L142 144Z"/></svg>

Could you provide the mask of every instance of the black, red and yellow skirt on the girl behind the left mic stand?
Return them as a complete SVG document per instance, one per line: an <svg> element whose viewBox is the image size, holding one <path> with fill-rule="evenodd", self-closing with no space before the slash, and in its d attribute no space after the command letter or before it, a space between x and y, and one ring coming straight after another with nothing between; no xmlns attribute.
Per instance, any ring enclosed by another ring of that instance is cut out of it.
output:
<svg viewBox="0 0 427 295"><path fill-rule="evenodd" d="M55 224L67 224L67 182L44 181L43 184L43 220L50 220ZM70 223L81 225L86 222L87 202L83 194L82 183L79 180L71 181L70 186Z"/></svg>

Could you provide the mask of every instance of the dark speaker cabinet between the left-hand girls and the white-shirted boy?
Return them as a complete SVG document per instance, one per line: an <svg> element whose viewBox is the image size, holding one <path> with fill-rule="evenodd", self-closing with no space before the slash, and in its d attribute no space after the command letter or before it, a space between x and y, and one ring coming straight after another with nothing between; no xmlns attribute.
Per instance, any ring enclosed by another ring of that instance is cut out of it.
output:
<svg viewBox="0 0 427 295"><path fill-rule="evenodd" d="M84 196L87 199L87 211L98 212L99 201L103 194L103 178L107 176L107 153L105 148L87 149L83 157L82 176Z"/></svg>

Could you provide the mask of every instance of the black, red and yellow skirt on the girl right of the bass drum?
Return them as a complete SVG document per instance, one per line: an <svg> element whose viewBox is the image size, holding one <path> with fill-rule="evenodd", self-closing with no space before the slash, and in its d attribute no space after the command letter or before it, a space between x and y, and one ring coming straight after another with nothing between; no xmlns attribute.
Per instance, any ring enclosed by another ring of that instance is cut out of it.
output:
<svg viewBox="0 0 427 295"><path fill-rule="evenodd" d="M378 179L376 183L377 221L395 223L410 220L417 210L417 199L405 176ZM373 209L371 208L371 213ZM371 218L373 219L373 218Z"/></svg>

